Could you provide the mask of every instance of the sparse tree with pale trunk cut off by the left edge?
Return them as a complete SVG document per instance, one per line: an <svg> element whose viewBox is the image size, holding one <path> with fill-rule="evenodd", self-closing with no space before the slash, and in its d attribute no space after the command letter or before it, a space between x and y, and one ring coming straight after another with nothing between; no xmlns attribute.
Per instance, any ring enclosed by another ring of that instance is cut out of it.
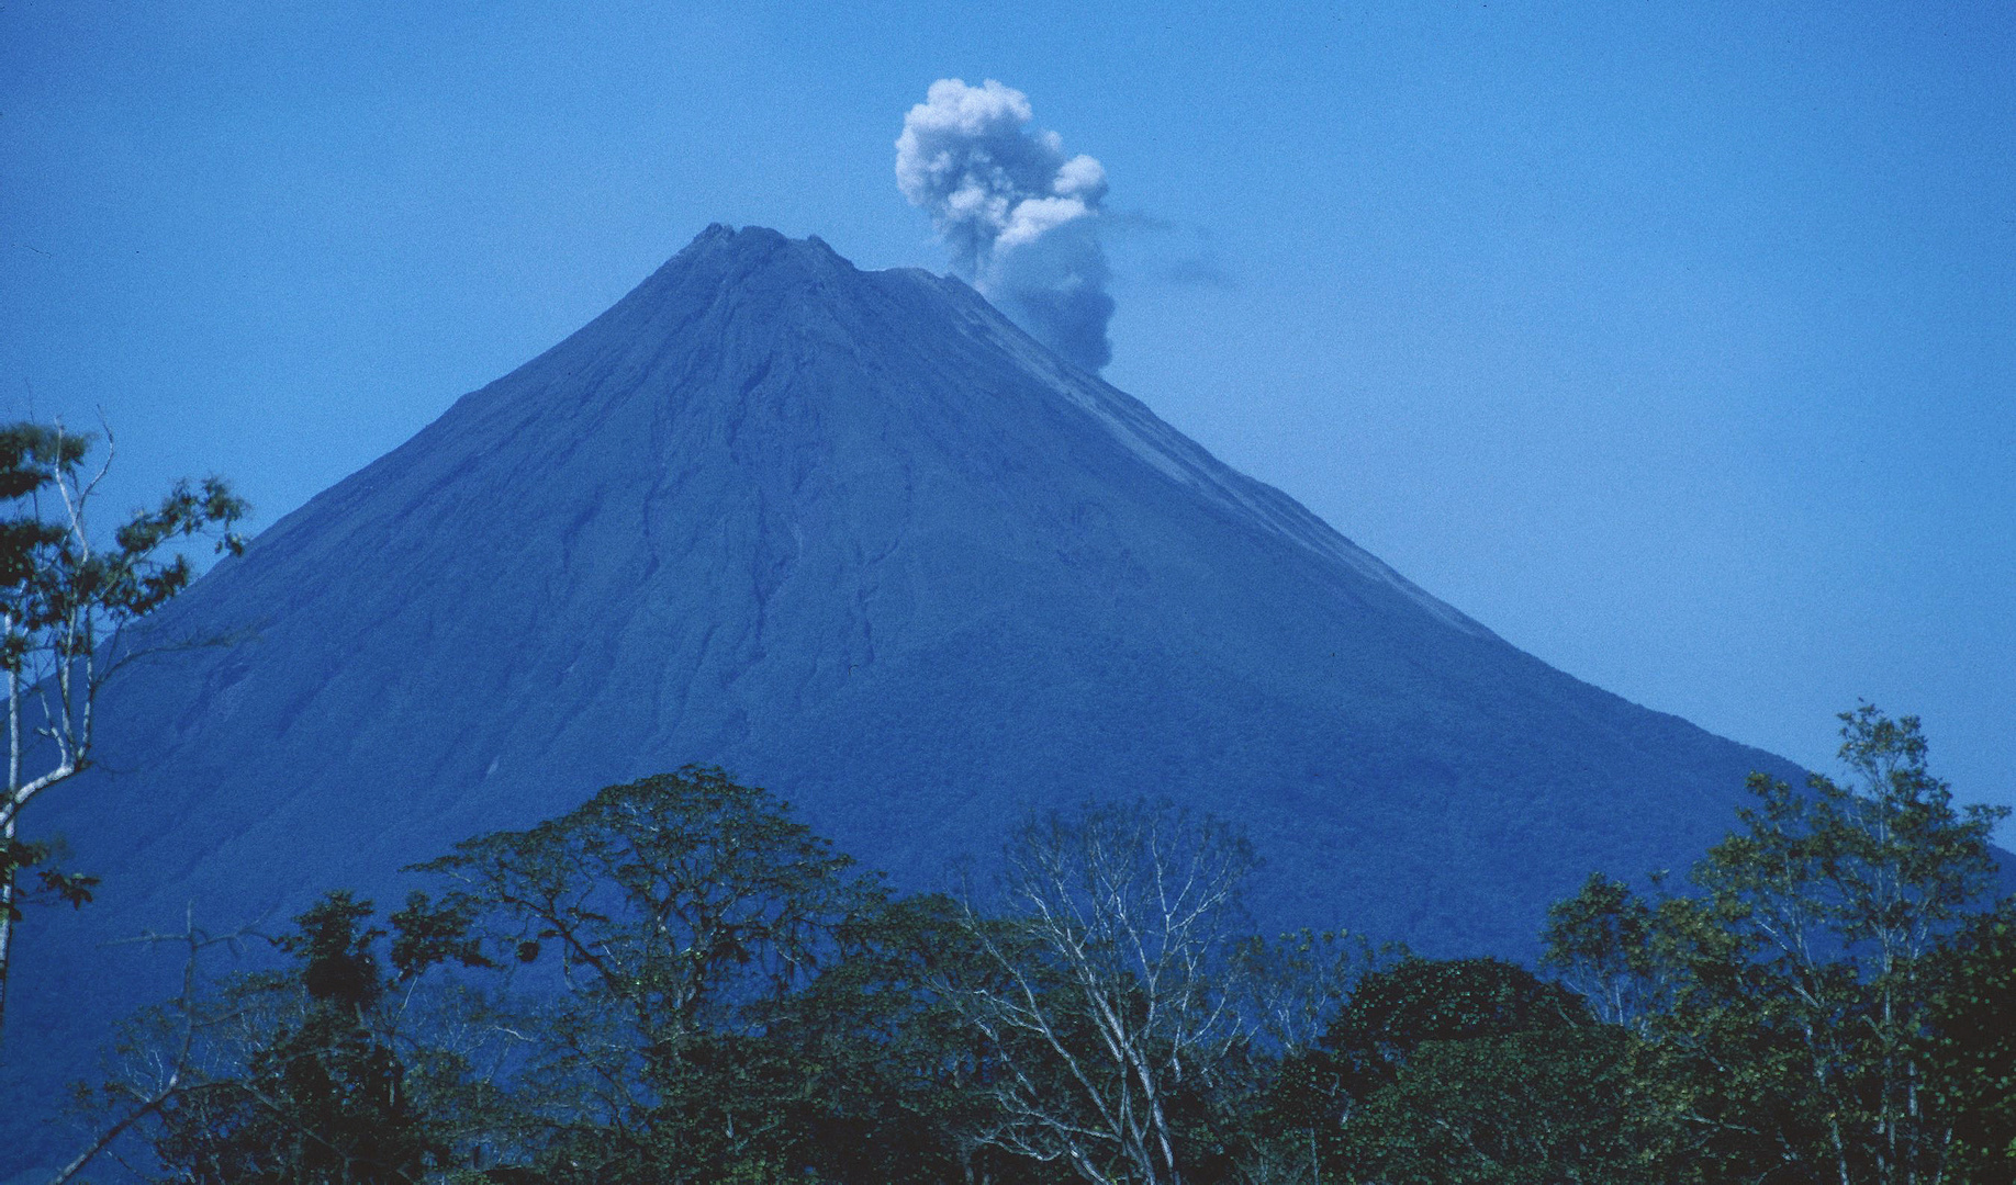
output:
<svg viewBox="0 0 2016 1185"><path fill-rule="evenodd" d="M6 794L0 796L0 1020L12 969L14 923L24 891L71 905L91 899L95 879L48 865L48 842L20 838L22 810L87 770L99 689L135 657L127 627L196 576L177 544L218 536L232 554L232 526L246 504L220 478L177 482L151 510L133 512L111 536L91 530L89 508L111 464L91 468L95 437L60 423L0 425L0 669L6 673ZM28 764L34 768L28 768ZM32 881L20 873L36 867Z"/></svg>

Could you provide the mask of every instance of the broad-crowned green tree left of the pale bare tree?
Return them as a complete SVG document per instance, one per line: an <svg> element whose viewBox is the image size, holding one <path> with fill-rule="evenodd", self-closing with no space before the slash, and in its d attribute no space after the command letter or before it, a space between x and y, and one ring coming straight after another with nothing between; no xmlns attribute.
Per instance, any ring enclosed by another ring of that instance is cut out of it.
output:
<svg viewBox="0 0 2016 1185"><path fill-rule="evenodd" d="M685 768L423 865L532 1002L514 1078L550 1181L762 1177L816 1068L768 1016L883 893L768 792Z"/></svg>

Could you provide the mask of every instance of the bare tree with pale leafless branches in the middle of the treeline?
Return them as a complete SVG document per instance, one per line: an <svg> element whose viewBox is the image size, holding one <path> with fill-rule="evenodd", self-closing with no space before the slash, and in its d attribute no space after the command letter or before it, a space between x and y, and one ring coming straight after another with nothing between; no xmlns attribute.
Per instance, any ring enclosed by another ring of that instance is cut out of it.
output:
<svg viewBox="0 0 2016 1185"><path fill-rule="evenodd" d="M1010 842L996 911L968 895L986 975L946 996L996 1050L992 1139L1097 1185L1181 1185L1177 1110L1246 1032L1234 945L1256 861L1173 806L1087 806Z"/></svg>

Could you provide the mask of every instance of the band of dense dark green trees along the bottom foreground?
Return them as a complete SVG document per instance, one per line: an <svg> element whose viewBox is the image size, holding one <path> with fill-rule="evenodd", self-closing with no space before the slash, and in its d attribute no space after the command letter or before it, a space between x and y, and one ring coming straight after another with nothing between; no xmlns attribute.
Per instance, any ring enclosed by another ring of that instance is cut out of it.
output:
<svg viewBox="0 0 2016 1185"><path fill-rule="evenodd" d="M714 770L331 893L87 1094L155 1181L2016 1181L2016 909L1911 717L1752 780L1685 883L1593 877L1540 973L1260 939L1177 808L1030 820L897 895ZM1349 903L1339 903L1349 917Z"/></svg>

